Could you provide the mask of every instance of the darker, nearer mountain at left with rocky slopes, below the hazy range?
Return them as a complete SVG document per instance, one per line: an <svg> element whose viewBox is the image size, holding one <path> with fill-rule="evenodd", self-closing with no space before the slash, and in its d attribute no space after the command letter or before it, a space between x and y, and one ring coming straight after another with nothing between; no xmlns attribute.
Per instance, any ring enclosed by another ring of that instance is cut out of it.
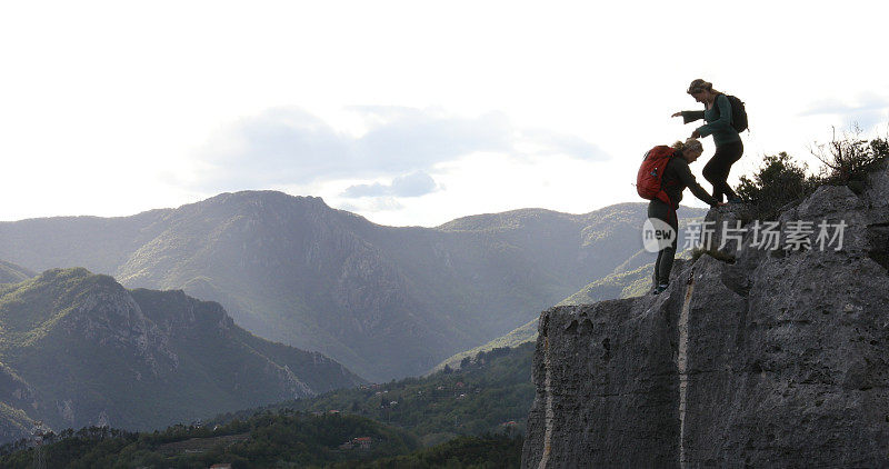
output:
<svg viewBox="0 0 889 469"><path fill-rule="evenodd" d="M260 339L182 291L82 268L0 286L0 440L49 427L149 429L363 380Z"/></svg>

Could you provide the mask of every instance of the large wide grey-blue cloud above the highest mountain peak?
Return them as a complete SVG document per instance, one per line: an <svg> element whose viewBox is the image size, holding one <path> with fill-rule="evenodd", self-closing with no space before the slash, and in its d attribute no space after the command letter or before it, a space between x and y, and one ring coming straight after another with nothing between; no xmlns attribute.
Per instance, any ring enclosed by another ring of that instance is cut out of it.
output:
<svg viewBox="0 0 889 469"><path fill-rule="evenodd" d="M348 111L364 122L363 134L339 131L298 108L269 109L233 122L197 152L200 170L190 178L192 186L221 191L389 177L394 178L389 186L356 186L347 191L368 194L361 197L416 197L436 187L426 171L473 152L607 159L583 139L520 129L499 112L466 118L439 109L353 107ZM408 176L399 179L397 174Z"/></svg>

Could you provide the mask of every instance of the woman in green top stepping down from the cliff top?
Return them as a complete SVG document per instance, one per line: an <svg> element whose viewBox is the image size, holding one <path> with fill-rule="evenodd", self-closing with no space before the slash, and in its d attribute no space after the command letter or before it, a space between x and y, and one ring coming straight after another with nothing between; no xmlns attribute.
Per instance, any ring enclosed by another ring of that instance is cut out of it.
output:
<svg viewBox="0 0 889 469"><path fill-rule="evenodd" d="M713 198L722 201L722 196L728 197L729 202L740 202L741 199L731 190L728 183L729 171L736 161L743 154L743 143L741 136L731 127L731 103L726 94L713 89L713 83L703 81L700 78L692 81L688 87L689 94L696 101L702 102L703 111L680 111L672 117L682 117L683 123L703 119L707 123L695 129L691 138L713 136L716 153L703 167L703 179L713 184Z"/></svg>

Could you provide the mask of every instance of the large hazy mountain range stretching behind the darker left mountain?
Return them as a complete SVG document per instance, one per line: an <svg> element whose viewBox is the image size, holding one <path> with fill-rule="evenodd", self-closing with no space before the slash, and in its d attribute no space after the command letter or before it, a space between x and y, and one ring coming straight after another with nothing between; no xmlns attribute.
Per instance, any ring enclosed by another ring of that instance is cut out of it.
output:
<svg viewBox="0 0 889 469"><path fill-rule="evenodd" d="M645 212L523 209L393 228L319 198L250 191L133 217L0 223L0 259L183 289L259 336L383 381L426 372L611 273L640 251Z"/></svg>

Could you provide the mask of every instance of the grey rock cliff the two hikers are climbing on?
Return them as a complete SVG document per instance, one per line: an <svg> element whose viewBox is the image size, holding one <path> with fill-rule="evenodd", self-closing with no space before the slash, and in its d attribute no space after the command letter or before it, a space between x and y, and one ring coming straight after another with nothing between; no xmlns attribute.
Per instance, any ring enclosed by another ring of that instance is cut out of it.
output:
<svg viewBox="0 0 889 469"><path fill-rule="evenodd" d="M783 212L812 223L808 248L749 230L722 248L735 263L679 263L663 295L545 311L522 466L889 465L889 174L872 179ZM847 223L840 249L820 249L825 220Z"/></svg>

